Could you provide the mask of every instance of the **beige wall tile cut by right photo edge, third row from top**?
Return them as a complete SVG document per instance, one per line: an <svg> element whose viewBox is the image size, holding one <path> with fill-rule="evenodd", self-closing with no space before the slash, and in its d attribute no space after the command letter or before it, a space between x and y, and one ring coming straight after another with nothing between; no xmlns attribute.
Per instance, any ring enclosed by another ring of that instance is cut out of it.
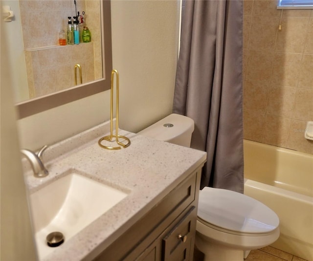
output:
<svg viewBox="0 0 313 261"><path fill-rule="evenodd" d="M313 55L304 54L301 61L298 87L313 89Z"/></svg>

